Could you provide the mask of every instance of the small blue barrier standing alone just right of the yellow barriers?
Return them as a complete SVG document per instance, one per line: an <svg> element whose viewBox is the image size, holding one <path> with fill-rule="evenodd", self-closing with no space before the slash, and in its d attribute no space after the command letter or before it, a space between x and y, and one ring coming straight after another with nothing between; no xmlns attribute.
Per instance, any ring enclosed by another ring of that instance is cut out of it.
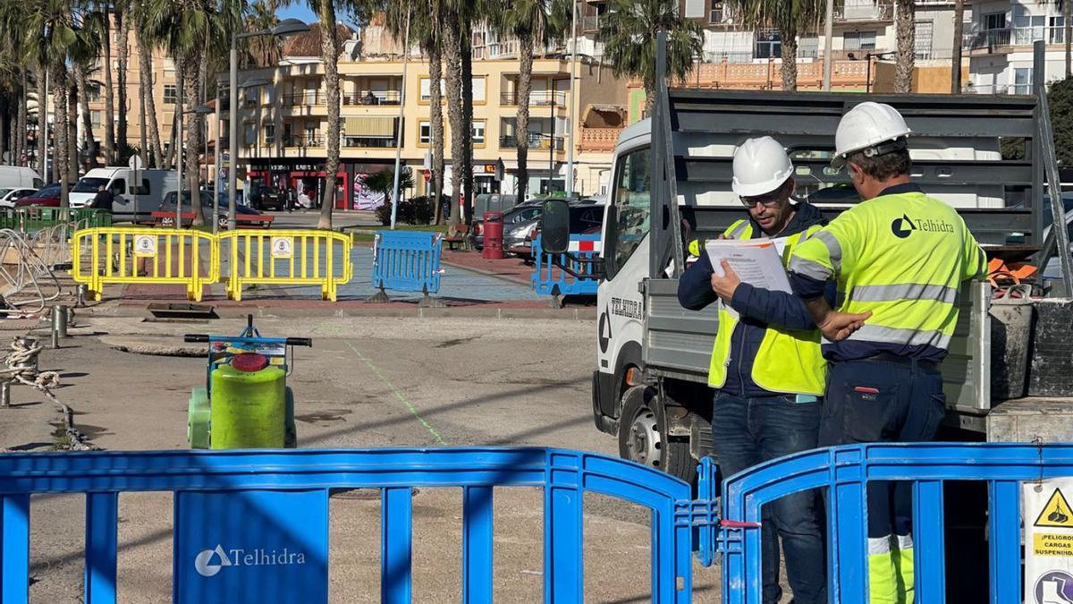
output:
<svg viewBox="0 0 1073 604"><path fill-rule="evenodd" d="M386 302L385 289L429 293L440 290L443 238L426 231L377 231L372 255L372 301Z"/></svg>

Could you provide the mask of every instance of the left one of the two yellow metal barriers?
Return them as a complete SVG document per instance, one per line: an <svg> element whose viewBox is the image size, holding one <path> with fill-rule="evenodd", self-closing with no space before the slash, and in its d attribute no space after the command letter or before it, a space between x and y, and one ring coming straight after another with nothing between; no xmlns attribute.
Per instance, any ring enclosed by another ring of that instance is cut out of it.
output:
<svg viewBox="0 0 1073 604"><path fill-rule="evenodd" d="M200 301L202 288L220 278L220 248L211 233L102 227L76 231L72 240L71 276L87 285L93 300L105 285L127 283L185 285L187 298Z"/></svg>

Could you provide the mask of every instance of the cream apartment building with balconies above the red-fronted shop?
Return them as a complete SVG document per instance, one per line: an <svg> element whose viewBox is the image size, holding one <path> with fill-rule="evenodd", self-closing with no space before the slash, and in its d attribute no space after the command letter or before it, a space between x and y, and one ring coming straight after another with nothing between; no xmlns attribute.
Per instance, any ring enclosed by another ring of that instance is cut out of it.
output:
<svg viewBox="0 0 1073 604"><path fill-rule="evenodd" d="M305 34L303 34L305 35ZM324 196L327 155L327 104L324 68L318 57L299 56L288 43L283 63L242 71L239 109L239 166L247 182L271 184ZM369 208L382 196L363 186L368 174L391 168L396 141L400 159L414 174L413 195L430 192L430 78L427 61L417 53L403 59L395 41L374 23L363 38L351 32L339 61L340 166L339 208ZM534 60L530 119L518 132L518 61L516 43L501 43L486 31L474 32L473 172L476 192L513 192L517 178L517 145L527 142L528 188L532 193L565 188L570 145L574 146L574 190L598 193L606 186L611 152L624 125L626 86L607 67L579 60L576 94L571 95L571 63L560 55ZM572 127L571 115L577 115ZM226 120L226 115L223 116ZM226 121L223 130L226 130ZM452 190L451 127L444 102L445 188ZM224 144L226 144L224 142ZM500 177L501 175L501 177Z"/></svg>

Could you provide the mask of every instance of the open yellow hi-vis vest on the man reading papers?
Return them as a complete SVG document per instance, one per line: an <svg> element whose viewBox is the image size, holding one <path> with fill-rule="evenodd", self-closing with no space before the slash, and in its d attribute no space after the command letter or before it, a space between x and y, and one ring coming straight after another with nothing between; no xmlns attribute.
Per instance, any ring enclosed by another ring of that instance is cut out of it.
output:
<svg viewBox="0 0 1073 604"><path fill-rule="evenodd" d="M782 249L782 264L787 265L790 256L802 241L820 230L817 225L810 229L794 233L787 238ZM747 220L738 220L723 233L733 239L750 239L752 225ZM699 249L703 253L703 249ZM716 333L716 344L711 349L711 366L708 370L708 385L722 388L726 384L726 365L731 360L731 336L737 327L737 315L727 311L726 305L719 303L719 331ZM780 329L767 326L760 350L752 362L752 380L764 390L785 392L788 394L822 396L827 377L827 362L820 351L820 330L807 331Z"/></svg>

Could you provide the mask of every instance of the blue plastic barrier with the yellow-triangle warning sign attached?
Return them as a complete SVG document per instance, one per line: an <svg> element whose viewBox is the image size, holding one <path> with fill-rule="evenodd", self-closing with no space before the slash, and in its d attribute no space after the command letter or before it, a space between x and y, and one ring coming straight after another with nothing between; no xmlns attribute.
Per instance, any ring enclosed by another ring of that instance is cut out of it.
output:
<svg viewBox="0 0 1073 604"><path fill-rule="evenodd" d="M705 460L699 497L715 494L715 464ZM871 444L817 449L755 465L723 484L723 602L760 604L761 506L798 491L828 489L832 602L868 601L866 483L913 483L916 602L945 601L943 481L985 480L993 604L1021 601L1023 480L1073 476L1073 445ZM710 563L715 529L701 529L702 562Z"/></svg>

